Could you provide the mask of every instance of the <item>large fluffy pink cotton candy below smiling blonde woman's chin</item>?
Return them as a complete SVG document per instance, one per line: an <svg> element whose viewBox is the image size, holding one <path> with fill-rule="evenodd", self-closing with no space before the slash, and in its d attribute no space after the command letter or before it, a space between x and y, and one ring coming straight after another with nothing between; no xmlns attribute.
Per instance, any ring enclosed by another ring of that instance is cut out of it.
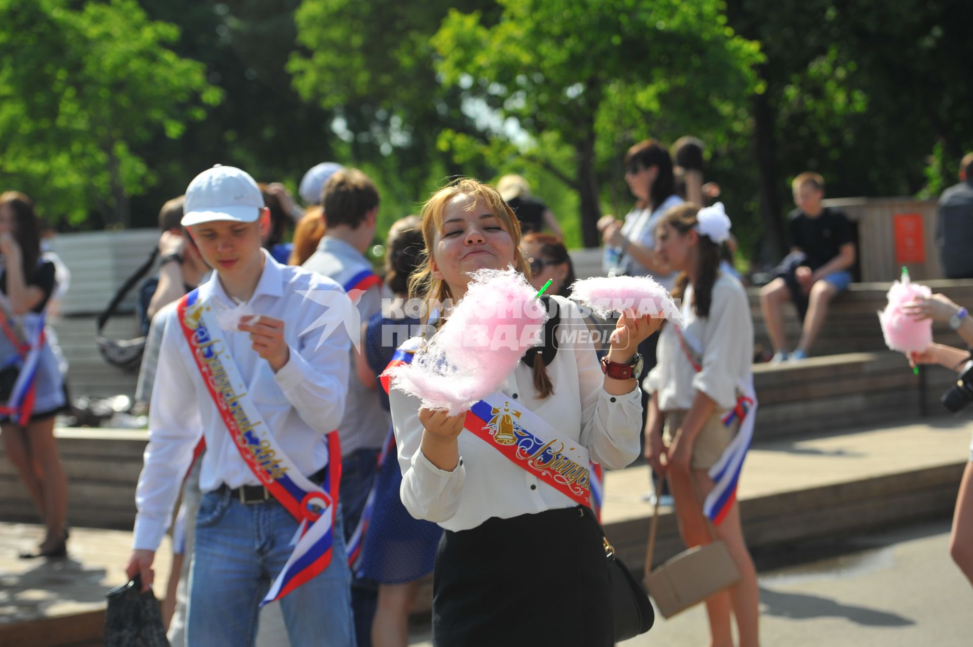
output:
<svg viewBox="0 0 973 647"><path fill-rule="evenodd" d="M466 295L411 364L389 372L391 387L427 409L463 412L499 389L524 351L543 340L548 314L523 274L477 270Z"/></svg>

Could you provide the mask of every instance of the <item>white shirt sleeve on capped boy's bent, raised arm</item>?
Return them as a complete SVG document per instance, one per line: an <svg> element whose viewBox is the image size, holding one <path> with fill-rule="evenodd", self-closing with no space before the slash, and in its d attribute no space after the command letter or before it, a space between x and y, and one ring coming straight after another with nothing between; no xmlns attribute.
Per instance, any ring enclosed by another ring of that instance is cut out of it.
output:
<svg viewBox="0 0 973 647"><path fill-rule="evenodd" d="M337 285L334 292L347 300ZM347 306L325 310L323 306L311 306L312 303L306 302L308 311L296 322L303 331L297 347L290 346L290 359L274 374L274 380L311 428L328 433L338 427L344 414L351 340L344 329L347 324L342 321L346 318L342 313L346 315L353 307L349 302ZM323 324L312 325L321 317Z"/></svg>

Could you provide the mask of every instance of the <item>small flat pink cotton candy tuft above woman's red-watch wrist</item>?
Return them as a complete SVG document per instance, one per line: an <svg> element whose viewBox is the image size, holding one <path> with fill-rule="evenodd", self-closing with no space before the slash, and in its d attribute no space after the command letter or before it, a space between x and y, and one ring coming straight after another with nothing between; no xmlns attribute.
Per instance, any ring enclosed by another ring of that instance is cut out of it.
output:
<svg viewBox="0 0 973 647"><path fill-rule="evenodd" d="M571 285L571 299L607 317L611 312L639 316L662 312L669 321L682 324L682 314L666 288L649 276L595 276Z"/></svg>

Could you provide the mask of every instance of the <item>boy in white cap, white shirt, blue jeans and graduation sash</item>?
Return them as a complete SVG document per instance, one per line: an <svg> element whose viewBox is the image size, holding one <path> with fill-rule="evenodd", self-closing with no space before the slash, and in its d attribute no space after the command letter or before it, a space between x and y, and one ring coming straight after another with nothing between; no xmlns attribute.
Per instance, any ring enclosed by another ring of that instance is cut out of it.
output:
<svg viewBox="0 0 973 647"><path fill-rule="evenodd" d="M341 451L330 433L347 390L347 299L334 281L261 248L270 213L242 170L200 173L185 212L215 272L165 313L126 573L151 585L201 435L187 643L253 645L259 605L279 599L292 645L349 646Z"/></svg>

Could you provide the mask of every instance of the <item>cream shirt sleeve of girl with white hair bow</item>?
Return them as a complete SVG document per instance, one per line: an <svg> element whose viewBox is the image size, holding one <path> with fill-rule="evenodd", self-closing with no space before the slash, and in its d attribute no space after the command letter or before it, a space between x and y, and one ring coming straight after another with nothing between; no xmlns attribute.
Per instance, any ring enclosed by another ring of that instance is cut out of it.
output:
<svg viewBox="0 0 973 647"><path fill-rule="evenodd" d="M703 369L693 388L712 398L720 409L737 402L737 385L753 362L753 322L742 290L713 291L703 337Z"/></svg>

